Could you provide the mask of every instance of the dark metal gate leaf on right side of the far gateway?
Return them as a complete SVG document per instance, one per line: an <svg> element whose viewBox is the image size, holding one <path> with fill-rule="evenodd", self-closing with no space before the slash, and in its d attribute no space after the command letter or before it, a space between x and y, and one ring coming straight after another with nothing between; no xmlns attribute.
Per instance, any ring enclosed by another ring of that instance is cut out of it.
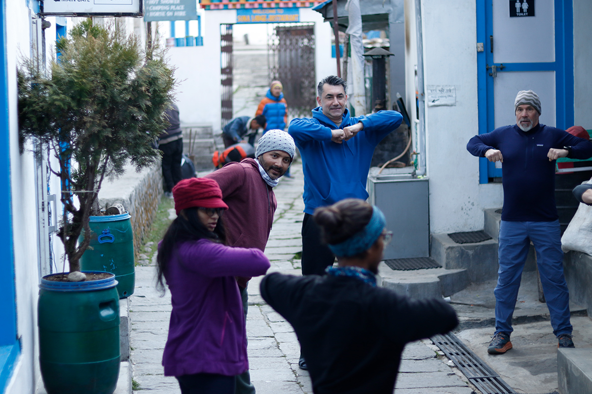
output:
<svg viewBox="0 0 592 394"><path fill-rule="evenodd" d="M288 118L310 116L316 105L314 23L276 25L269 35L269 80L284 85Z"/></svg>

